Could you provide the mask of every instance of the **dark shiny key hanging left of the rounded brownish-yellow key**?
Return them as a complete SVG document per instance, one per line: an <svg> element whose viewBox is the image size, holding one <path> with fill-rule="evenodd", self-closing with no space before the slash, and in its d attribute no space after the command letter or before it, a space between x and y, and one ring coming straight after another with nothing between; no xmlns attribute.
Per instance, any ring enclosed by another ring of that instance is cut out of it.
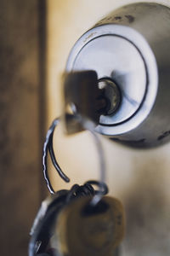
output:
<svg viewBox="0 0 170 256"><path fill-rule="evenodd" d="M95 183L95 182L93 182ZM98 183L98 182L97 182ZM105 193L107 187L104 186ZM51 239L54 236L54 226L58 218L59 211L75 198L95 194L93 186L88 182L79 186L73 185L71 190L62 189L54 195L42 201L42 206L37 212L37 216L31 228L31 241L29 243L29 256L59 256L55 247L52 247ZM56 242L55 242L56 244Z"/></svg>

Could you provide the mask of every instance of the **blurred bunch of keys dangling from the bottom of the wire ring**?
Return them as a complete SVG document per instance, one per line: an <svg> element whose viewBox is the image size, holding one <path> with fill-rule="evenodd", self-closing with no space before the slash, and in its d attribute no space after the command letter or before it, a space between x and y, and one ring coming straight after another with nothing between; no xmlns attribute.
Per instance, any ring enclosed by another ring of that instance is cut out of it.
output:
<svg viewBox="0 0 170 256"><path fill-rule="evenodd" d="M106 196L102 183L103 196L94 204L99 193L94 185L101 183L75 184L42 202L31 229L29 256L118 255L125 227L122 203Z"/></svg>

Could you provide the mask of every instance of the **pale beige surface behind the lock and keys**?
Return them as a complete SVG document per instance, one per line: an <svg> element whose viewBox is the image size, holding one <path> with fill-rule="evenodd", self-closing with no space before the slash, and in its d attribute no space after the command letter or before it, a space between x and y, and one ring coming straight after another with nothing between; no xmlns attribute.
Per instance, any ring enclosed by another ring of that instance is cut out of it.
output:
<svg viewBox="0 0 170 256"><path fill-rule="evenodd" d="M134 2L138 1L48 0L48 124L61 113L60 76L77 38L112 9ZM170 5L170 1L155 2ZM138 151L104 138L102 143L111 195L123 201L127 213L123 255L169 254L170 144ZM71 177L71 184L99 177L95 149L88 132L74 137L65 137L62 129L55 133L56 154L60 166ZM56 189L71 187L55 172L51 177Z"/></svg>

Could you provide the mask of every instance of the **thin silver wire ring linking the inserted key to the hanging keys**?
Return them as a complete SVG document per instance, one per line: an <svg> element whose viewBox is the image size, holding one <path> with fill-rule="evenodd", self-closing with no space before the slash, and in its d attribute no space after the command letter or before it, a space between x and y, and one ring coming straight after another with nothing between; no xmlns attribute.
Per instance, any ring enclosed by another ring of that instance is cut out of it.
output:
<svg viewBox="0 0 170 256"><path fill-rule="evenodd" d="M98 149L98 154L99 154L99 166L100 166L100 181L95 182L91 181L93 184L99 186L99 190L94 195L91 204L96 205L100 199L102 198L103 195L105 195L105 156L104 156L104 150L102 148L101 142L99 140L99 137L94 131L94 123L91 122L89 119L83 118L79 114L74 114L71 115L72 118L75 118L83 128L86 130L90 131L90 133L94 137L94 142L96 144L96 148ZM56 169L56 171L59 173L59 176L65 180L66 183L70 182L70 178L65 175L65 173L61 170L58 161L56 160L55 154L54 154L54 146L53 146L53 138L54 138L54 130L57 125L59 125L60 118L54 119L52 122L52 125L50 125L47 135L46 135L46 140L43 145L43 155L42 155L42 165L43 165L43 176L45 178L45 181L48 186L48 190L51 194L54 194L54 188L49 180L48 176L48 153L50 156L50 159L52 160L53 166Z"/></svg>

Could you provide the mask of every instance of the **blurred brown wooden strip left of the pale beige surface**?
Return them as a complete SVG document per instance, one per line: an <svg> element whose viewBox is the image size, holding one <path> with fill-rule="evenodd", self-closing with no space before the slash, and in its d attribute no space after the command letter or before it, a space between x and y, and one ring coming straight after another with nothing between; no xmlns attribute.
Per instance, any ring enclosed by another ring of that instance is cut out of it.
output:
<svg viewBox="0 0 170 256"><path fill-rule="evenodd" d="M27 255L42 189L45 1L0 1L0 254Z"/></svg>

